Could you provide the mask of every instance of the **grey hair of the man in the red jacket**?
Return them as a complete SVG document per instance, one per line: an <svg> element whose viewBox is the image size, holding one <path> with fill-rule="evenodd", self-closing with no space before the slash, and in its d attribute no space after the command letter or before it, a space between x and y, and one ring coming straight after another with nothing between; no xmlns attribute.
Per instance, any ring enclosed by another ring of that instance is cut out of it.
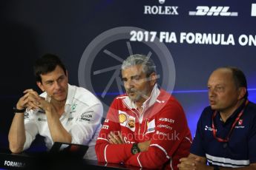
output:
<svg viewBox="0 0 256 170"><path fill-rule="evenodd" d="M128 56L122 63L122 69L128 67L142 65L142 72L145 72L147 76L151 75L152 72L157 72L154 61L146 55L134 54Z"/></svg>

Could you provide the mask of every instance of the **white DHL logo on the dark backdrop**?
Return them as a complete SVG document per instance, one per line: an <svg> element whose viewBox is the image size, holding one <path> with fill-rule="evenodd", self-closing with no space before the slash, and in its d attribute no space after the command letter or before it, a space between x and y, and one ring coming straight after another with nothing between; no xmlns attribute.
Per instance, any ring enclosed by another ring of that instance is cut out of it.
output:
<svg viewBox="0 0 256 170"><path fill-rule="evenodd" d="M238 16L237 12L229 12L229 7L197 6L197 11L189 11L189 16Z"/></svg>

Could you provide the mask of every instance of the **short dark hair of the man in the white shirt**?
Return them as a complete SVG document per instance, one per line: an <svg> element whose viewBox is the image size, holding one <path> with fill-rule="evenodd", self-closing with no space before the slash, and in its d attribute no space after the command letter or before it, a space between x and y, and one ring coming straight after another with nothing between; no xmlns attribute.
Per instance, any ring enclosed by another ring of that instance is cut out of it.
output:
<svg viewBox="0 0 256 170"><path fill-rule="evenodd" d="M61 67L66 75L66 67L57 55L50 53L42 55L41 58L36 60L36 63L33 66L36 81L40 81L42 83L41 75L52 72L54 69L56 69L56 66Z"/></svg>

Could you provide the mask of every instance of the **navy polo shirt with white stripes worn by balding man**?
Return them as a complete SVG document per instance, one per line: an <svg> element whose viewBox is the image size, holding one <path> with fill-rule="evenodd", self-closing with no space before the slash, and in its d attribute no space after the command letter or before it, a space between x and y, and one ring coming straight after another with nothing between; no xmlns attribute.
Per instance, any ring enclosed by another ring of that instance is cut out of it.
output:
<svg viewBox="0 0 256 170"><path fill-rule="evenodd" d="M217 137L226 138L237 115L243 110L243 103L224 123L220 112L214 118ZM249 102L243 115L237 121L226 143L219 142L212 132L210 106L203 110L197 123L197 132L191 145L191 154L206 157L209 164L225 167L249 166L256 163L256 104Z"/></svg>

